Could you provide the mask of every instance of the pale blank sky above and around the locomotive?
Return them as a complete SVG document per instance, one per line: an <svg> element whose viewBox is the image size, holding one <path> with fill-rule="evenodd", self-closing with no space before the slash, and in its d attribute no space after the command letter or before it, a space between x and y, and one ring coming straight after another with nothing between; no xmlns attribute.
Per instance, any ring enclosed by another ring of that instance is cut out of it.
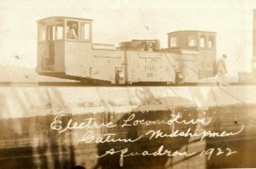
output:
<svg viewBox="0 0 256 169"><path fill-rule="evenodd" d="M36 67L37 20L50 16L92 19L93 42L160 39L182 30L217 32L217 54L231 74L250 71L253 0L0 0L0 65ZM17 57L18 56L18 57Z"/></svg>

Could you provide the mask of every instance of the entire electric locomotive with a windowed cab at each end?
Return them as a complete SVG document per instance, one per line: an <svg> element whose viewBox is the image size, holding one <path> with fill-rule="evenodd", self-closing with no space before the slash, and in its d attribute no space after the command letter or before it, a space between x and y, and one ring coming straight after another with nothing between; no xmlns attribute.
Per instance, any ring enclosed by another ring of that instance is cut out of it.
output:
<svg viewBox="0 0 256 169"><path fill-rule="evenodd" d="M92 20L38 20L37 72L81 82L113 84L198 82L215 75L215 33L176 31L167 35L166 49L160 48L158 40L120 42L119 48L115 48L92 43Z"/></svg>

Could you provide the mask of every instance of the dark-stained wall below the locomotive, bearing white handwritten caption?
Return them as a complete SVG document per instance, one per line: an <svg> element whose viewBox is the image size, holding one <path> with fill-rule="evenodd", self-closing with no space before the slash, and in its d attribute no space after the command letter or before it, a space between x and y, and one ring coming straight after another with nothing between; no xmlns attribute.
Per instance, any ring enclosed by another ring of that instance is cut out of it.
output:
<svg viewBox="0 0 256 169"><path fill-rule="evenodd" d="M2 87L0 168L256 166L256 99L242 94L256 94L256 87L224 89L227 93L218 87ZM62 116L56 120L58 115ZM181 116L177 121L205 119L208 123L166 124L172 115ZM108 127L102 125L111 122ZM149 139L153 133L149 131L159 130L237 134ZM110 141L106 141L108 134L112 134ZM113 141L129 138L138 139ZM191 155L129 155L161 148ZM120 158L120 152L110 155L110 149L127 149L126 156ZM228 155L229 150L237 153Z"/></svg>

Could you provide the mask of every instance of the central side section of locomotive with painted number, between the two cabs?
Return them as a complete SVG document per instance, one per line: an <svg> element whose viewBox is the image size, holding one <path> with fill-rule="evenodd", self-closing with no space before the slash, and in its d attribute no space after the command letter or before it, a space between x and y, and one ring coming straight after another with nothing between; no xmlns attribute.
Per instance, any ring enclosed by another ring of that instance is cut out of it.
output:
<svg viewBox="0 0 256 169"><path fill-rule="evenodd" d="M127 82L174 82L175 71L165 54L142 51L127 53Z"/></svg>

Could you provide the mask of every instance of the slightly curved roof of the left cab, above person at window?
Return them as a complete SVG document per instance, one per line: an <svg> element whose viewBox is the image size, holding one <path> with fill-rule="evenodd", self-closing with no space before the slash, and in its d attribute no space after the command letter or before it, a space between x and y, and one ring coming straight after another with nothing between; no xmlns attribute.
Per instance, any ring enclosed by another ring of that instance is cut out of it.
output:
<svg viewBox="0 0 256 169"><path fill-rule="evenodd" d="M83 18L73 18L73 17L67 17L67 16L52 16L52 17L48 17L48 18L38 20L37 22L38 22L38 24L51 24L51 23L63 22L64 20L92 21L90 19L83 19Z"/></svg>

